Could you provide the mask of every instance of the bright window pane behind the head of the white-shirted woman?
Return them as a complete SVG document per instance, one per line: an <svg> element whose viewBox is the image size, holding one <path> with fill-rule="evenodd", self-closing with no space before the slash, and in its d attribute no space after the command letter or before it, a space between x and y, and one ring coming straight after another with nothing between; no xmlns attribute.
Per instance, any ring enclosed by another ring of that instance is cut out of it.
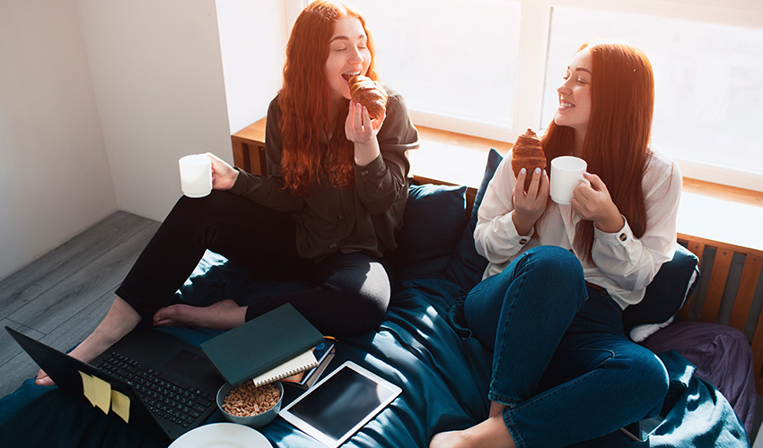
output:
<svg viewBox="0 0 763 448"><path fill-rule="evenodd" d="M749 187L763 177L763 142L752 132L763 104L763 30L568 7L553 8L550 30L544 126L577 47L617 36L643 49L652 63L656 149L678 160L687 177L722 184L748 177Z"/></svg>

